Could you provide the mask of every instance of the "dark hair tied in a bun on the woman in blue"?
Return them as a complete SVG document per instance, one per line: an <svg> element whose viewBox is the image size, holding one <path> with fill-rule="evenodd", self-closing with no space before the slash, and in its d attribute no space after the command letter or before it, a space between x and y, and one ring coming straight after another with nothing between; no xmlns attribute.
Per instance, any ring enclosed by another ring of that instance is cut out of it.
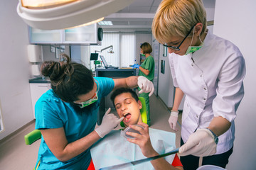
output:
<svg viewBox="0 0 256 170"><path fill-rule="evenodd" d="M78 101L78 96L92 91L94 80L92 72L84 65L70 62L70 57L61 54L62 62L43 62L41 73L50 78L54 93L63 101Z"/></svg>

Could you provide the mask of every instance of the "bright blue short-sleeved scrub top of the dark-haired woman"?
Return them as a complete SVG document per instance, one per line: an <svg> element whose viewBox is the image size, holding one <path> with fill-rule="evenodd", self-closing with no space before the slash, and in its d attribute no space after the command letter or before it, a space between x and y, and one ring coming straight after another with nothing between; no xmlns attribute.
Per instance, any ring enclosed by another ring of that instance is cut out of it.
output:
<svg viewBox="0 0 256 170"><path fill-rule="evenodd" d="M82 114L77 113L70 103L61 101L53 90L46 91L36 102L36 129L63 127L68 143L79 140L95 130L101 98L110 94L114 89L113 79L95 77L95 80L99 88L98 100L93 103L93 107ZM67 162L60 162L42 137L36 164L39 160L41 163L38 169L87 169L91 160L90 148Z"/></svg>

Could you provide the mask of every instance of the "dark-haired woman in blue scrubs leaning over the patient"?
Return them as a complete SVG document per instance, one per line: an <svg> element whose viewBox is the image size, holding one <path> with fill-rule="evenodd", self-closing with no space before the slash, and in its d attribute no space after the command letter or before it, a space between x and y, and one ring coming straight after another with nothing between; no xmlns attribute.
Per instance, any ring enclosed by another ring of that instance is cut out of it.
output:
<svg viewBox="0 0 256 170"><path fill-rule="evenodd" d="M63 57L63 62L44 62L41 67L43 76L50 77L52 89L36 103L36 129L42 133L36 169L87 169L90 147L123 119L109 109L95 128L101 98L119 87L139 85L142 92L154 91L144 77L92 77L85 66Z"/></svg>

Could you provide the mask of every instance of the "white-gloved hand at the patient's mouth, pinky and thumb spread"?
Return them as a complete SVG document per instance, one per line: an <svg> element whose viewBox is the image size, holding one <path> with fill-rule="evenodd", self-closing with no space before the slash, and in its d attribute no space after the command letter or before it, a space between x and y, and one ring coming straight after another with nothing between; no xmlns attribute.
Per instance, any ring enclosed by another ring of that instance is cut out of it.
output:
<svg viewBox="0 0 256 170"><path fill-rule="evenodd" d="M97 134L103 138L105 135L107 135L111 130L117 127L117 125L124 119L122 118L117 118L113 113L110 113L111 108L107 110L105 115L102 118L102 123L101 125L95 129Z"/></svg>

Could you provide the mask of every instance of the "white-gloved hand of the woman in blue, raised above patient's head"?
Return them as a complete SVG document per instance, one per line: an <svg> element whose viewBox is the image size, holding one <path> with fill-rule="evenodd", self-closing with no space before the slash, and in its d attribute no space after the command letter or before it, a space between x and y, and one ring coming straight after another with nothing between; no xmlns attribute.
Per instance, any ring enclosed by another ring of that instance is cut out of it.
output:
<svg viewBox="0 0 256 170"><path fill-rule="evenodd" d="M142 93L149 93L149 97L154 93L154 84L152 81L149 81L149 79L146 79L146 77L139 76L138 77L138 86L141 89L139 91L139 94Z"/></svg>

